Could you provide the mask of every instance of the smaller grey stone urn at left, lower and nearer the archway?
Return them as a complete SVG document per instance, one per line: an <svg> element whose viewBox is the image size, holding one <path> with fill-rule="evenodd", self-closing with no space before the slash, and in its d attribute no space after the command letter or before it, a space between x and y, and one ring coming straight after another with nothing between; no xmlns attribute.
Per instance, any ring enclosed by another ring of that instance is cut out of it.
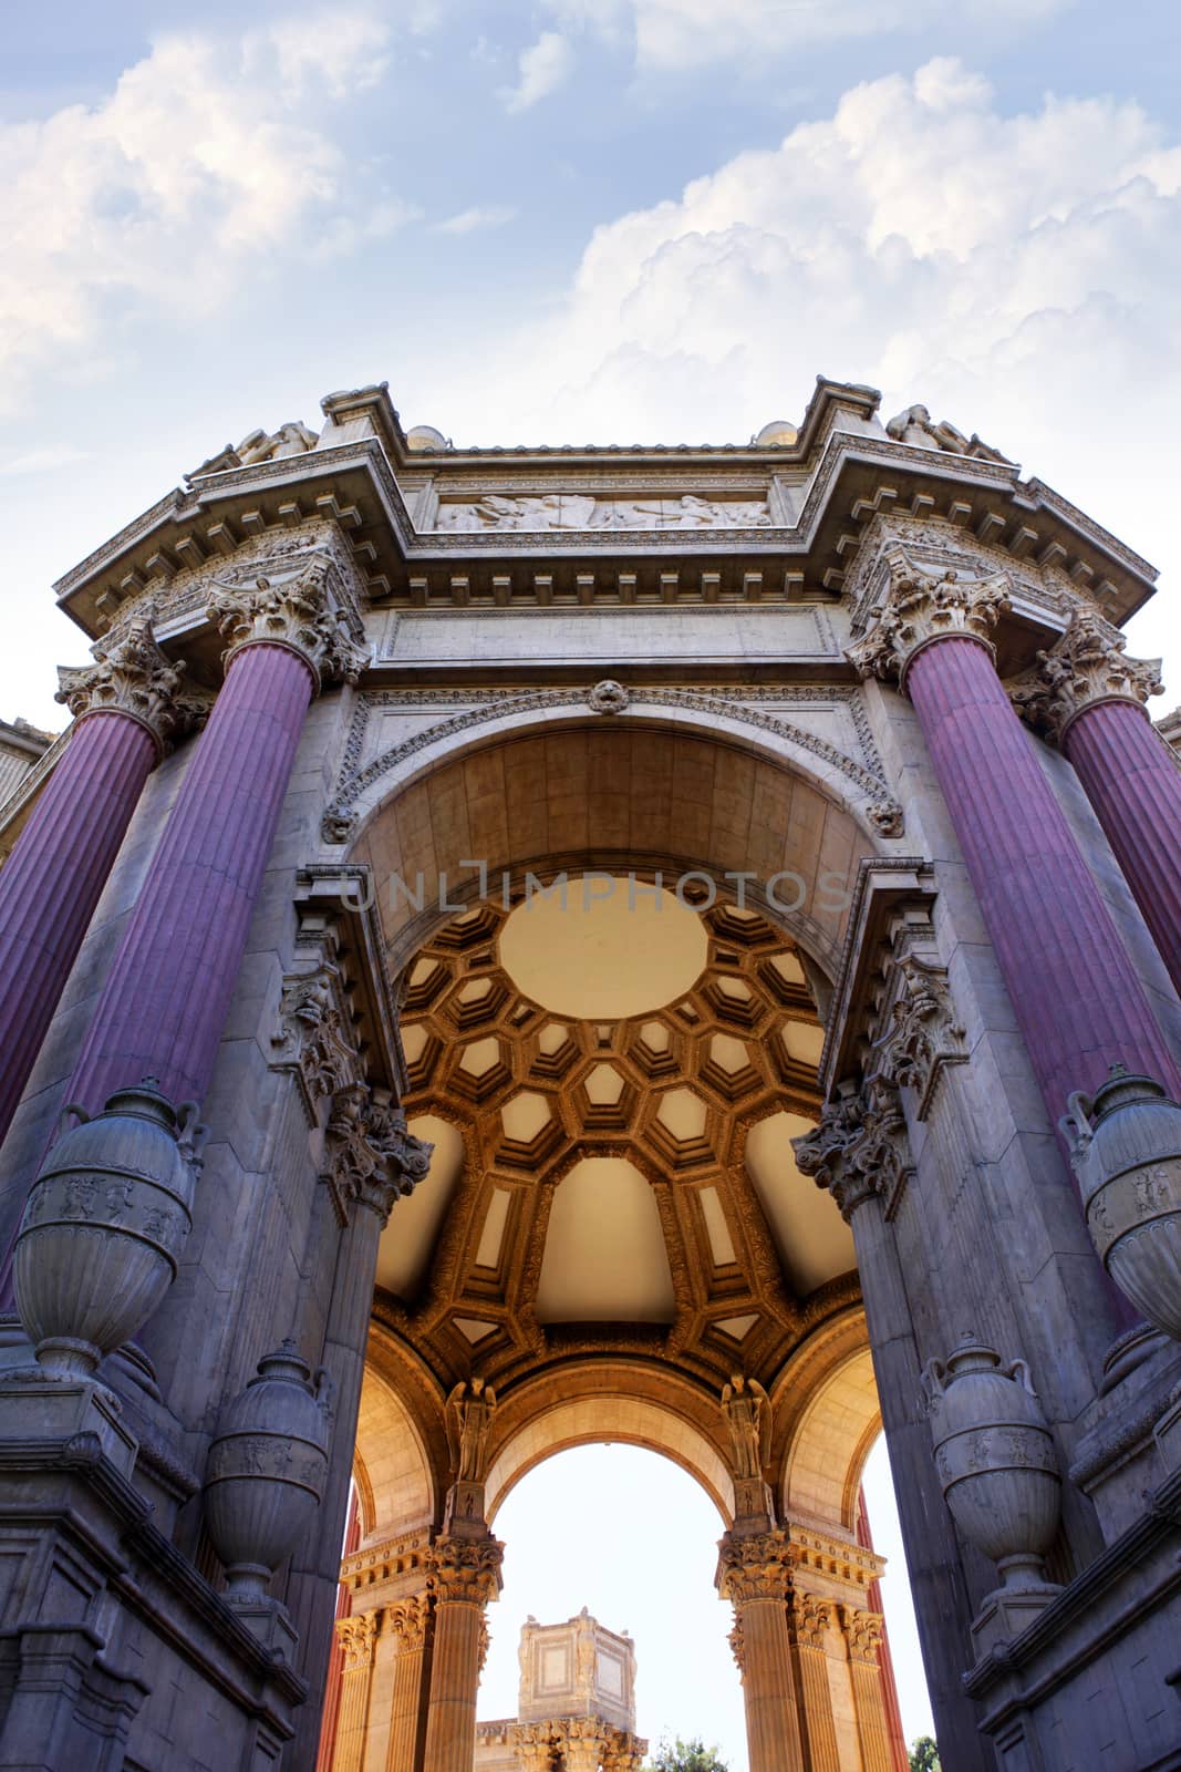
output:
<svg viewBox="0 0 1181 1772"><path fill-rule="evenodd" d="M331 1380L287 1340L221 1411L205 1465L205 1524L227 1597L257 1598L308 1529L328 1480Z"/></svg>

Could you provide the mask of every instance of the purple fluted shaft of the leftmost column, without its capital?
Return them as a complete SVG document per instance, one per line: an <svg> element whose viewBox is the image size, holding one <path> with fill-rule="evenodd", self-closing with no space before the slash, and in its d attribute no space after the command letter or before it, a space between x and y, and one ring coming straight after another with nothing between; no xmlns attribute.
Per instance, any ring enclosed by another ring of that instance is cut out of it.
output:
<svg viewBox="0 0 1181 1772"><path fill-rule="evenodd" d="M87 714L0 870L0 1139L156 757L140 719Z"/></svg>

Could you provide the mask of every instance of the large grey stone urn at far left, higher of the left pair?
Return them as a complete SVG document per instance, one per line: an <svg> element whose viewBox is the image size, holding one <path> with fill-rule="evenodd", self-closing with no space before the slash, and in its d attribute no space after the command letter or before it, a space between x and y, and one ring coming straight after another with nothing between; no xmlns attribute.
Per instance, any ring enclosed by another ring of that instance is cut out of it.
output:
<svg viewBox="0 0 1181 1772"><path fill-rule="evenodd" d="M89 1377L152 1315L177 1276L200 1173L197 1104L174 1109L156 1077L117 1090L67 1127L16 1235L16 1310L50 1372Z"/></svg>

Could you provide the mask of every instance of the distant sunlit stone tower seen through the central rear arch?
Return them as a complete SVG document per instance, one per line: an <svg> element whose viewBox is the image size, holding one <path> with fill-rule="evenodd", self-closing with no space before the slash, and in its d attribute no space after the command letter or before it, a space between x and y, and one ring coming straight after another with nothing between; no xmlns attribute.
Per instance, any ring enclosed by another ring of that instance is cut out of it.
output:
<svg viewBox="0 0 1181 1772"><path fill-rule="evenodd" d="M521 1628L515 1717L476 1722L476 1772L637 1772L648 1742L636 1735L636 1646L604 1630L586 1607L561 1625Z"/></svg>

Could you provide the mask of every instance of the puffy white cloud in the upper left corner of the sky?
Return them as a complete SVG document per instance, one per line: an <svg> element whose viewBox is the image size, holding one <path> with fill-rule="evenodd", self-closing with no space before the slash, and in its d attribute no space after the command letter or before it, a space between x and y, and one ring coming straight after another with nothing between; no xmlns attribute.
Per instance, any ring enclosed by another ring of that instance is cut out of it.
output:
<svg viewBox="0 0 1181 1772"><path fill-rule="evenodd" d="M384 69L367 12L159 39L96 106L0 126L0 377L81 360L104 321L225 301L250 259L301 239L347 248L405 220L359 216L349 167L308 120Z"/></svg>

